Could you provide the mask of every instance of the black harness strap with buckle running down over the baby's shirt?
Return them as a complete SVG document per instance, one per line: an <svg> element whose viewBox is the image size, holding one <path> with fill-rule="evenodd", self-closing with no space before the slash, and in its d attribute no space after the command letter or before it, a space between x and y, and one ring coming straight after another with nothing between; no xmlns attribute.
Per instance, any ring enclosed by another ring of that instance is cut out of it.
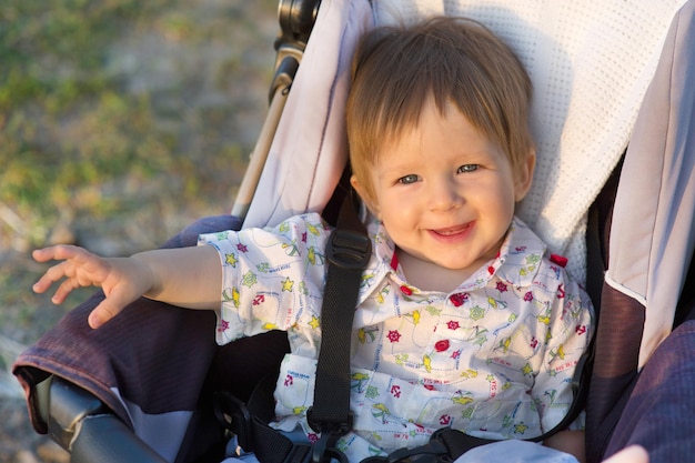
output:
<svg viewBox="0 0 695 463"><path fill-rule="evenodd" d="M273 417L268 397L272 397L274 381L259 386L248 406L229 393L216 394L218 421L236 435L242 449L252 450L260 462L323 463L332 459L348 463L334 445L352 429L349 346L362 272L372 255L371 241L351 199L350 194L343 199L338 227L325 250L328 274L321 308L321 350L314 402L306 413L309 425L321 433L320 441L313 445L293 443L268 425Z"/></svg>

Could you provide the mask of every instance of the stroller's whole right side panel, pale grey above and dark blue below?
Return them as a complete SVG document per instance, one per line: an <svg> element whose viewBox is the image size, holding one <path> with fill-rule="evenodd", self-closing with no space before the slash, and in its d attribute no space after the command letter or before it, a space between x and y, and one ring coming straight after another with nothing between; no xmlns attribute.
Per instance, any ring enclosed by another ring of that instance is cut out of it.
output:
<svg viewBox="0 0 695 463"><path fill-rule="evenodd" d="M689 461L695 453L686 393L695 381L693 322L671 334L694 306L692 288L684 288L695 241L693 43L689 1L664 44L613 209L586 405L590 462L629 443L645 445L652 462Z"/></svg>

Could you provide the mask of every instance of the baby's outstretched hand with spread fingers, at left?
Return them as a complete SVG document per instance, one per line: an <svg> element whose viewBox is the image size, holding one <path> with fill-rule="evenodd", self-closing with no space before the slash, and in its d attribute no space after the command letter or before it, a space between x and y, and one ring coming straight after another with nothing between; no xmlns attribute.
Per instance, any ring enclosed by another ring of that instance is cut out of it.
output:
<svg viewBox="0 0 695 463"><path fill-rule="evenodd" d="M57 245L33 252L37 262L62 261L51 266L34 283L37 293L46 292L54 282L63 280L51 301L62 303L72 290L80 286L101 286L105 299L89 315L89 325L99 328L151 286L149 269L130 258L107 259L71 245Z"/></svg>

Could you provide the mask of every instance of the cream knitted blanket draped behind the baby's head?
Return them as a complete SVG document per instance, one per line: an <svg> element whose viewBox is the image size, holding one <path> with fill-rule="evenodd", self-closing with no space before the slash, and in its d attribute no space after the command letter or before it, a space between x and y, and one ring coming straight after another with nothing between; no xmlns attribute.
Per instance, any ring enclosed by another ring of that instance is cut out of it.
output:
<svg viewBox="0 0 695 463"><path fill-rule="evenodd" d="M465 16L500 36L534 83L537 163L520 204L567 270L585 281L586 213L618 162L684 0L379 0L376 22Z"/></svg>

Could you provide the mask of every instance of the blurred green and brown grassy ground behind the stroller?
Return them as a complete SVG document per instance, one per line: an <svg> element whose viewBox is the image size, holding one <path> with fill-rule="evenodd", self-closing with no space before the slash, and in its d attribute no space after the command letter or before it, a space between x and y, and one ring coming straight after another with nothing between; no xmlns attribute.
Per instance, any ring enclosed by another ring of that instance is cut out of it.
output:
<svg viewBox="0 0 695 463"><path fill-rule="evenodd" d="M31 249L72 242L129 254L230 211L268 107L276 9L276 0L0 2L0 415L13 396L14 351L92 292L61 308L32 294L46 265ZM10 424L0 462L38 455L33 441L18 450Z"/></svg>

